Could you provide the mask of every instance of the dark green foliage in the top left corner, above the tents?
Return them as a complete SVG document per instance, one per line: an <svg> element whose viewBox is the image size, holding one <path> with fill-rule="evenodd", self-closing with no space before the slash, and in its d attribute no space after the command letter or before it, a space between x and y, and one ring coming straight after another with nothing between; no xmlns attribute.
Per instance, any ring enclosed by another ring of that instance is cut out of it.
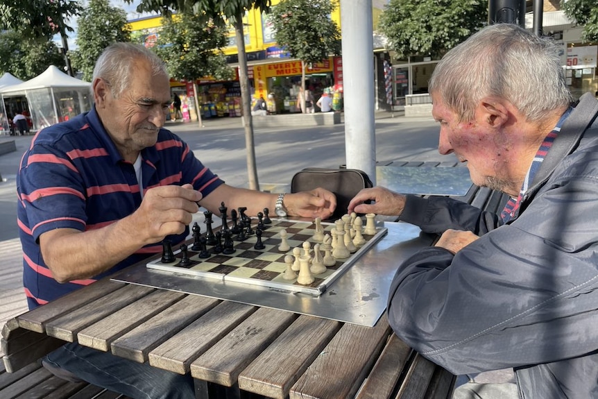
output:
<svg viewBox="0 0 598 399"><path fill-rule="evenodd" d="M28 37L51 37L73 32L67 21L79 15L81 9L78 0L3 0L0 21L3 28Z"/></svg>

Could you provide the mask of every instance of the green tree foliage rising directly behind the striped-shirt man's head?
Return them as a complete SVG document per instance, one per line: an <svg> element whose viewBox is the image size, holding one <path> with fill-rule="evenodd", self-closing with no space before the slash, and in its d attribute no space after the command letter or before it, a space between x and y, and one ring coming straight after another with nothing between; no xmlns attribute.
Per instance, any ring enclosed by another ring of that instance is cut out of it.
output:
<svg viewBox="0 0 598 399"><path fill-rule="evenodd" d="M103 49L114 42L130 41L127 15L108 0L90 0L78 19L77 51L70 51L73 67L92 80L94 65Z"/></svg>

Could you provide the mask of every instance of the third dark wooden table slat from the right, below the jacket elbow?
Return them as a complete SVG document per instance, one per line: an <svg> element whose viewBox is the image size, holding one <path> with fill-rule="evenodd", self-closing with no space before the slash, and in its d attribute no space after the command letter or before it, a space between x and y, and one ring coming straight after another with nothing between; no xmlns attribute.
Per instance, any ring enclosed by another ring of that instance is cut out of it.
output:
<svg viewBox="0 0 598 399"><path fill-rule="evenodd" d="M355 396L356 399L378 399L390 398L395 390L407 361L413 350L401 341L396 334L391 334L382 354L378 357L374 368L361 390Z"/></svg>

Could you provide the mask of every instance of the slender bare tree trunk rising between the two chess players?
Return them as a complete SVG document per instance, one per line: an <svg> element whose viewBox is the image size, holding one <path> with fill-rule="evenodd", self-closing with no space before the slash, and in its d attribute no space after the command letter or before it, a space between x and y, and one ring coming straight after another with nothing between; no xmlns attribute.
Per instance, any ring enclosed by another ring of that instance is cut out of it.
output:
<svg viewBox="0 0 598 399"><path fill-rule="evenodd" d="M250 189L259 189L257 181L257 167L255 164L255 144L253 142L253 119L251 117L251 99L249 92L249 78L247 76L247 58L245 55L245 36L243 34L243 12L237 15L234 24L237 35L237 51L239 53L239 83L241 84L241 110L245 128L245 146L247 150L247 174Z"/></svg>

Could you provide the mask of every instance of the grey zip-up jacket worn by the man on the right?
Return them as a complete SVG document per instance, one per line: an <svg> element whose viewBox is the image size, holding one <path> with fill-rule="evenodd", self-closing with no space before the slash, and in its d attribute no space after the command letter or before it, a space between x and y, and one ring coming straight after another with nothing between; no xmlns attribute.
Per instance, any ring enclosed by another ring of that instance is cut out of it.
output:
<svg viewBox="0 0 598 399"><path fill-rule="evenodd" d="M388 321L409 346L456 375L514 368L521 398L598 398L597 113L582 96L504 225L450 198L408 196L401 220L481 235L398 269Z"/></svg>

